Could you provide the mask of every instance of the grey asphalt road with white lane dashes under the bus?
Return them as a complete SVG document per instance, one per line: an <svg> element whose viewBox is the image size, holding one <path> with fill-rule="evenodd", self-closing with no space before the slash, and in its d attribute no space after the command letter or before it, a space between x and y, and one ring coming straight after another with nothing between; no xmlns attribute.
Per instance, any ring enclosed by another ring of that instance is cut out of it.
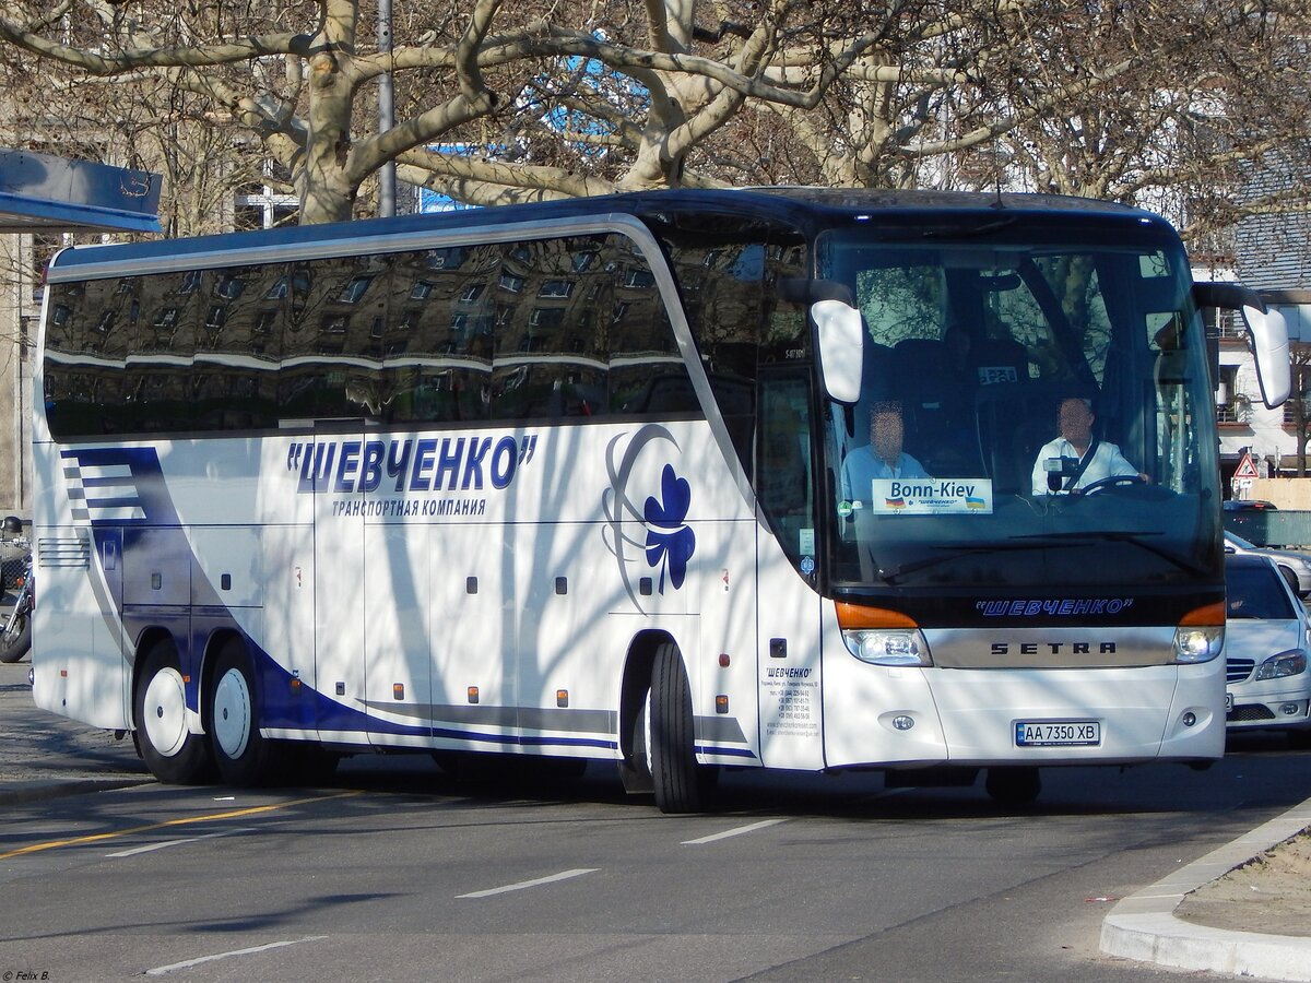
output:
<svg viewBox="0 0 1311 983"><path fill-rule="evenodd" d="M0 739L63 735L41 769L142 780L130 744L47 714L16 730L9 684ZM0 979L1177 979L1101 955L1101 917L1311 797L1311 755L1278 748L1209 772L1051 771L1028 810L733 773L724 811L663 817L607 768L531 786L421 758L354 759L308 789L10 801Z"/></svg>

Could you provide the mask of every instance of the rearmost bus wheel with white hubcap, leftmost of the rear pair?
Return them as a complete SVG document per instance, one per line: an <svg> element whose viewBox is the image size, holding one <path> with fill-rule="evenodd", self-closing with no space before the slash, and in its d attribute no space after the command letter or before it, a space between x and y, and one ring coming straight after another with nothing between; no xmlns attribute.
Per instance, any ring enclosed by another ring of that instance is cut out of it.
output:
<svg viewBox="0 0 1311 983"><path fill-rule="evenodd" d="M146 653L132 693L136 746L151 773L170 785L197 785L212 776L210 748L186 727L186 683L172 641Z"/></svg>

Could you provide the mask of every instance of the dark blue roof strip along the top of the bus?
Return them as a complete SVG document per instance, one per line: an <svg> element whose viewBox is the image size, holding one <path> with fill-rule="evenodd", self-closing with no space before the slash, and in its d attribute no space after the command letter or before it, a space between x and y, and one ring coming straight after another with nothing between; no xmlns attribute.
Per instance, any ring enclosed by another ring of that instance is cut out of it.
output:
<svg viewBox="0 0 1311 983"><path fill-rule="evenodd" d="M149 262L157 258L172 267L187 266L194 254L199 266L211 266L216 254L279 248L294 249L325 240L375 239L420 232L455 229L488 229L510 223L549 222L552 219L599 218L607 214L654 219L669 211L730 214L743 219L775 219L814 231L856 220L891 225L941 228L944 222L957 225L974 215L996 222L999 216L1023 218L1025 222L1065 223L1079 215L1093 224L1113 223L1168 228L1160 216L1114 202L1092 198L1038 194L985 194L973 191L901 191L871 189L825 189L773 186L734 190L661 190L569 198L556 202L507 204L486 208L461 208L439 214L404 215L389 219L359 219L319 225L294 225L257 232L233 232L191 239L166 239L146 242L73 246L60 252L51 262L51 273L60 280L79 279L79 274L96 277L96 266L123 262ZM203 257L203 258L202 258Z"/></svg>

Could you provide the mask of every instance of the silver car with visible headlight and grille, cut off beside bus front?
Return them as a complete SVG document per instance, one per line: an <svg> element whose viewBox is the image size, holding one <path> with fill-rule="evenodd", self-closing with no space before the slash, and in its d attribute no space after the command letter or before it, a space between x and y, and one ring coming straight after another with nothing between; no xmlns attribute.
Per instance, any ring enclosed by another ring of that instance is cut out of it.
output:
<svg viewBox="0 0 1311 983"><path fill-rule="evenodd" d="M1286 730L1311 747L1306 608L1269 557L1226 556L1224 582L1226 726Z"/></svg>

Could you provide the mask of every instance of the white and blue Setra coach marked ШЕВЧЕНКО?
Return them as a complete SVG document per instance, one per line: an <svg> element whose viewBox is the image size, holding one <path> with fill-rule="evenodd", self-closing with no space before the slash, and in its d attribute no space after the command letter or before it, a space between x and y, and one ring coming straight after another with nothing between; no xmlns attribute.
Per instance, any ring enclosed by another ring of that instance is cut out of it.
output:
<svg viewBox="0 0 1311 983"><path fill-rule="evenodd" d="M671 813L722 768L1023 802L1041 768L1205 767L1207 307L1278 405L1278 313L1083 199L671 190L66 249L35 701L168 782L536 756ZM1044 450L1070 398L1127 472Z"/></svg>

